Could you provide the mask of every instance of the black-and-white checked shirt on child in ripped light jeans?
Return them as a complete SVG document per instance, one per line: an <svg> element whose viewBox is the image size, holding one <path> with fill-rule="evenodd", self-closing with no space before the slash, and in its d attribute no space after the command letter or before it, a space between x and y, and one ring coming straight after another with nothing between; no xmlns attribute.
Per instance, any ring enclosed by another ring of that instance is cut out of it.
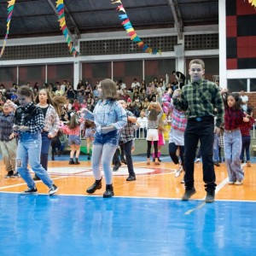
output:
<svg viewBox="0 0 256 256"><path fill-rule="evenodd" d="M34 105L33 102L30 102L26 108L19 107L16 109L16 112L21 112L20 122L15 119L15 125L25 125L29 128L29 131L25 131L26 133L38 133L44 129L44 113L41 108L37 107L37 114L32 118L25 121L24 111L27 111L30 107ZM22 131L18 131L22 133Z"/></svg>

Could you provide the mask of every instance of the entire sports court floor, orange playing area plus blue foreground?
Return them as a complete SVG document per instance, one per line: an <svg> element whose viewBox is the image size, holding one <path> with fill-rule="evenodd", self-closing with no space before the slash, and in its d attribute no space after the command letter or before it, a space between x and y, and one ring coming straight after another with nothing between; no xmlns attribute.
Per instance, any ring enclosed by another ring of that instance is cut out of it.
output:
<svg viewBox="0 0 256 256"><path fill-rule="evenodd" d="M0 161L0 255L255 255L256 164L243 165L244 184L229 185L224 163L215 167L216 201L204 202L201 163L195 164L196 194L181 201L183 184L169 157L160 166L134 157L137 180L126 182L127 168L113 173L115 196L94 182L90 161L69 166L49 160L60 188L49 196L20 195L22 178L4 178Z"/></svg>

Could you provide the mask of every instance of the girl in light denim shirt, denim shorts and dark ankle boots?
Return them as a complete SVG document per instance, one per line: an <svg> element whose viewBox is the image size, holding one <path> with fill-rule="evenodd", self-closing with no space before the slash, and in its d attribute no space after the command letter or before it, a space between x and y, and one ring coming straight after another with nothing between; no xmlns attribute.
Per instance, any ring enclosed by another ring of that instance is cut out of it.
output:
<svg viewBox="0 0 256 256"><path fill-rule="evenodd" d="M93 120L96 125L95 140L92 146L91 166L96 179L87 193L92 194L96 189L102 189L101 162L106 179L106 191L103 197L113 196L113 172L111 160L119 145L119 130L127 124L125 109L116 101L117 90L111 79L102 80L98 86L102 100L100 100L93 113L84 109L84 119Z"/></svg>

